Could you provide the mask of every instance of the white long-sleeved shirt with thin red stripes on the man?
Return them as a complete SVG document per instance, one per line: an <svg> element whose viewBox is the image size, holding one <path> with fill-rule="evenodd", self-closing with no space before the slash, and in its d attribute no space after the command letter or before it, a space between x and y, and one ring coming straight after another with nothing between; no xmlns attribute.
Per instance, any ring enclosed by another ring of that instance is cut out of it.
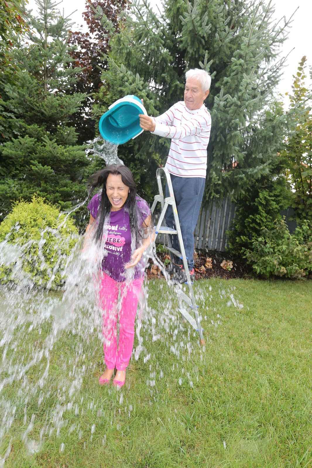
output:
<svg viewBox="0 0 312 468"><path fill-rule="evenodd" d="M207 171L207 146L211 117L203 104L200 109L187 109L177 102L167 112L155 117L154 135L171 138L165 167L174 176L203 177Z"/></svg>

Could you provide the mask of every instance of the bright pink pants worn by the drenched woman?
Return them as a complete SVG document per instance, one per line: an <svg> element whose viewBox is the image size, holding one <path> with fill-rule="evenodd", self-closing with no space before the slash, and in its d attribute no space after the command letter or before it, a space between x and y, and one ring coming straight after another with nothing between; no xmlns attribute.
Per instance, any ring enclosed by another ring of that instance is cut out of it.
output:
<svg viewBox="0 0 312 468"><path fill-rule="evenodd" d="M134 321L143 278L117 282L104 271L100 276L99 299L103 309L104 360L108 369L124 371L129 364L134 343ZM120 290L120 299L118 294ZM117 348L117 317L119 344Z"/></svg>

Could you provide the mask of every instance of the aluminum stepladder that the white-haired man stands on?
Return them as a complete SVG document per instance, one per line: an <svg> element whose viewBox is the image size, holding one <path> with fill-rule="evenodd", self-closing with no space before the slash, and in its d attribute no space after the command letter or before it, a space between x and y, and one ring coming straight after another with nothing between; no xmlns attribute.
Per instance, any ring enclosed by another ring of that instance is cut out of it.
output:
<svg viewBox="0 0 312 468"><path fill-rule="evenodd" d="M169 190L169 197L163 197L163 187L162 187L162 178L161 178L161 172L163 171L164 176L166 177L166 183L168 185L168 190ZM193 292L193 285L191 282L191 277L190 277L190 272L188 270L187 266L187 257L184 249L184 243L182 239L182 232L181 232L181 227L179 223L179 218L178 218L178 211L177 211L177 206L176 206L176 201L174 198L174 193L173 193L173 188L172 188L172 183L171 183L171 178L170 178L170 173L168 169L166 168L158 168L156 170L156 178L157 178L157 185L158 185L158 191L159 195L155 195L154 197L154 202L151 208L151 212L153 213L155 210L155 207L157 203L161 203L162 211L159 215L157 225L155 227L155 234L156 237L158 234L167 234L167 243L168 246L166 247L168 251L171 254L171 261L172 261L172 254L183 260L183 267L186 273L186 279L187 279L187 286L188 286L188 291L189 295L187 295L184 291L182 291L181 285L175 285L176 287L176 292L178 296L178 310L182 317L187 320L187 322L190 323L190 325L198 331L200 340L201 340L201 345L205 346L205 340L203 336L203 330L201 328L201 321L198 315L198 307L196 305L195 297L194 297L194 292ZM162 223L164 221L164 216L167 211L168 206L172 207L172 212L173 212L173 219L174 219L174 224L176 229L172 229L171 227L167 226L162 226ZM171 246L171 240L170 240L170 235L168 234L175 234L178 236L178 242L180 246L181 252L178 252L178 250L175 250ZM192 316L186 309L190 309L190 312L193 312Z"/></svg>

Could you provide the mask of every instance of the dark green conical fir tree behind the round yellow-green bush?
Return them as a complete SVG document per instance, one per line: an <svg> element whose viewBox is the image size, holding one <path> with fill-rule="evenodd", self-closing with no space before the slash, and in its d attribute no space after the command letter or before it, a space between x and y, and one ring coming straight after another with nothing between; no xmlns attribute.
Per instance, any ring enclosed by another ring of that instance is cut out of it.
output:
<svg viewBox="0 0 312 468"><path fill-rule="evenodd" d="M89 161L76 146L70 124L85 94L67 94L77 69L70 66L68 29L52 0L36 0L38 16L28 16L27 42L12 51L15 80L5 87L5 110L12 136L0 137L2 218L11 201L30 200L34 192L62 209L84 196L81 184Z"/></svg>

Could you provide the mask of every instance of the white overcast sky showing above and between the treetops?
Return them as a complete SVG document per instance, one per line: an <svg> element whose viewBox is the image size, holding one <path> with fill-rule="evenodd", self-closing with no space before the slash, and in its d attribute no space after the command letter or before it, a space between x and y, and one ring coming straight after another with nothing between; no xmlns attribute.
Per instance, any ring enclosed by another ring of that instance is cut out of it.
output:
<svg viewBox="0 0 312 468"><path fill-rule="evenodd" d="M160 3L159 0L150 0L152 7ZM70 15L72 20L78 26L84 25L86 22L82 18L82 12L85 9L86 0L75 0L74 2L68 0L59 1L59 10L62 11L64 8L65 15ZM312 18L312 1L311 0L297 0L296 2L290 0L272 0L272 4L275 4L275 17L277 19L283 16L289 19L294 13L297 7L298 10L293 17L291 24L290 34L288 39L285 41L281 56L290 54L287 59L287 65L284 68L282 79L279 83L277 92L285 94L286 91L291 91L291 84L293 82L292 75L296 74L297 66L301 58L306 55L308 70L312 67L312 37L311 37L311 18ZM73 7L74 5L74 7ZM35 9L35 0L29 0L28 8ZM74 9L77 11L72 14ZM74 29L74 26L73 26ZM292 50L294 49L294 50ZM309 77L309 71L307 70L307 76ZM307 80L307 83L310 80Z"/></svg>

